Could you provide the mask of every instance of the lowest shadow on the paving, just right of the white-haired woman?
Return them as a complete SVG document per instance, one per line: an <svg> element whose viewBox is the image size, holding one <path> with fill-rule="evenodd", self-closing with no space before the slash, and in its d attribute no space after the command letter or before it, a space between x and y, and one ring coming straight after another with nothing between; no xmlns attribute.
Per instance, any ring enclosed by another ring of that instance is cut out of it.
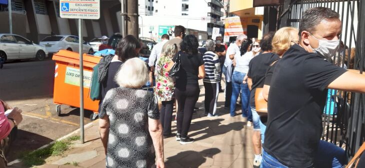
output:
<svg viewBox="0 0 365 168"><path fill-rule="evenodd" d="M184 151L175 156L167 158L166 167L173 168L173 163L177 163L183 168L198 168L206 162L206 158L213 158L214 155L220 153L217 148L210 148L200 152Z"/></svg>

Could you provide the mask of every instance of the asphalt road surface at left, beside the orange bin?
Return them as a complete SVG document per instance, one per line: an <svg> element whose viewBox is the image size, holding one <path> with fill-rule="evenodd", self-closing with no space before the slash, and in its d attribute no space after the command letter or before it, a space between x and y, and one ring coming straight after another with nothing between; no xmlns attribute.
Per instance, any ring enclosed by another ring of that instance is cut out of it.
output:
<svg viewBox="0 0 365 168"><path fill-rule="evenodd" d="M50 59L7 62L0 69L0 99L23 111L18 137L7 155L9 161L79 128L77 108L62 105L61 116L56 115L53 81L54 61ZM85 124L90 122L90 114L92 112L85 111Z"/></svg>

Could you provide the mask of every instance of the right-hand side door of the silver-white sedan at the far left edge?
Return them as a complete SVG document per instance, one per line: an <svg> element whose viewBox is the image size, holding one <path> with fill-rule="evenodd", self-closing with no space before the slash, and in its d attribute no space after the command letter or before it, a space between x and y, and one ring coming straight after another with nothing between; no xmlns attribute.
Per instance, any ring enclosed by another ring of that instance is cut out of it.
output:
<svg viewBox="0 0 365 168"><path fill-rule="evenodd" d="M14 35L17 44L19 44L19 58L35 58L35 47L33 43L23 37Z"/></svg>

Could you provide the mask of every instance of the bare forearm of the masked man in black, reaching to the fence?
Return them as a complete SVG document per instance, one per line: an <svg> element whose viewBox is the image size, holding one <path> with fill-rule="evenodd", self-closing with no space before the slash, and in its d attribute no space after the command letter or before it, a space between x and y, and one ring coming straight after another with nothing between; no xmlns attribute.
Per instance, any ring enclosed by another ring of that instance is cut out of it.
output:
<svg viewBox="0 0 365 168"><path fill-rule="evenodd" d="M347 71L332 81L327 88L365 93L365 74L359 74L356 70Z"/></svg>

